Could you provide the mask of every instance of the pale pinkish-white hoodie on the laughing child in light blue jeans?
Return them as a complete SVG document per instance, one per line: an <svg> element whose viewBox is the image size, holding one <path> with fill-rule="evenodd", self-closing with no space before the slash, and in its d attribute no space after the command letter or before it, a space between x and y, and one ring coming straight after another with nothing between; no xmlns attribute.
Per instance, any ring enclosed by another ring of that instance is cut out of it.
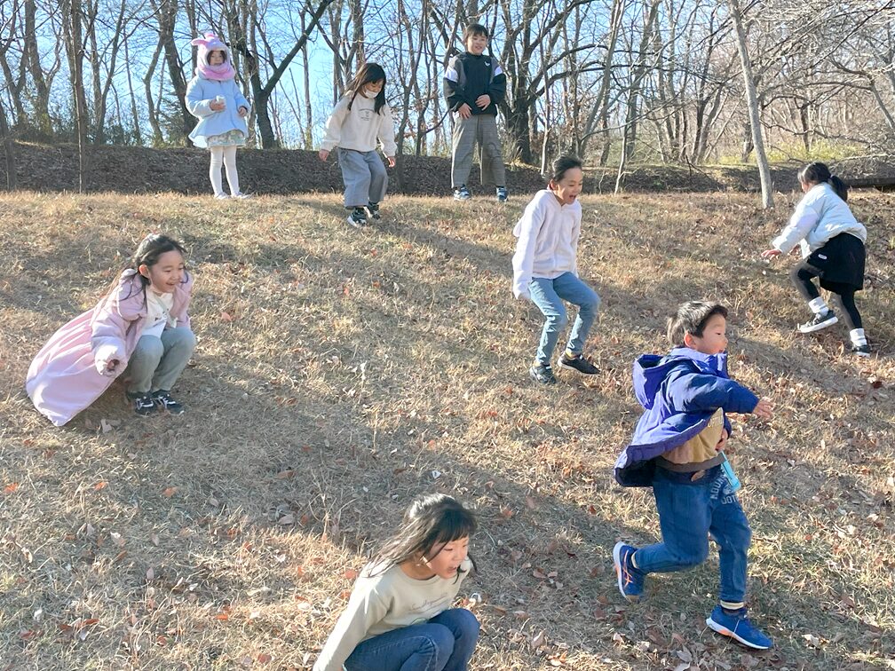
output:
<svg viewBox="0 0 895 671"><path fill-rule="evenodd" d="M556 279L563 273L578 274L578 236L581 234L581 203L560 205L553 191L538 191L516 223L513 234L513 295L529 296L532 277Z"/></svg>

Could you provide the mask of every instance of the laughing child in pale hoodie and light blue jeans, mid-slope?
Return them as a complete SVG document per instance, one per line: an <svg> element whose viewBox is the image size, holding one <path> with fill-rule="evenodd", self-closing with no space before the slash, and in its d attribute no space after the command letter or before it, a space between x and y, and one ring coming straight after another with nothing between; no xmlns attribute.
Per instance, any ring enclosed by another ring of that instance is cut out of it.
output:
<svg viewBox="0 0 895 671"><path fill-rule="evenodd" d="M556 384L550 359L559 332L568 318L563 301L578 306L578 315L568 336L566 350L559 355L559 368L596 375L599 370L584 358L584 342L600 308L600 296L578 277L577 250L581 234L581 203L578 194L584 183L581 160L558 157L546 189L538 191L513 234L513 294L528 298L543 313L541 343L528 373L536 382Z"/></svg>

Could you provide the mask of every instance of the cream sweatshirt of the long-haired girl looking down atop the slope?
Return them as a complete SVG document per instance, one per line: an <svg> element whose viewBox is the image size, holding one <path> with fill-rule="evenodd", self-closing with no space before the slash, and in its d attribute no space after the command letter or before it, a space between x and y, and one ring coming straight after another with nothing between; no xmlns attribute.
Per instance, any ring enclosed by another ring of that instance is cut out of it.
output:
<svg viewBox="0 0 895 671"><path fill-rule="evenodd" d="M376 151L376 140L382 142L382 151L387 157L394 157L395 123L392 121L388 105L374 111L375 98L367 98L359 93L348 109L351 96L343 96L329 115L327 134L320 149L332 151L336 147L355 151Z"/></svg>

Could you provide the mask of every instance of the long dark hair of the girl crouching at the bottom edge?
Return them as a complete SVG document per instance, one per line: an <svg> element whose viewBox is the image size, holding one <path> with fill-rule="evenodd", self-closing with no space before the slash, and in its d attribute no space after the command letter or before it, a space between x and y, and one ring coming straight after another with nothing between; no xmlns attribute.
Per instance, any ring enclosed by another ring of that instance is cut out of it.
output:
<svg viewBox="0 0 895 671"><path fill-rule="evenodd" d="M406 561L420 557L431 559L447 543L472 536L477 528L475 515L456 498L447 494L424 494L413 499L397 531L379 548L373 565L378 573L383 573ZM458 577L461 572L459 569Z"/></svg>

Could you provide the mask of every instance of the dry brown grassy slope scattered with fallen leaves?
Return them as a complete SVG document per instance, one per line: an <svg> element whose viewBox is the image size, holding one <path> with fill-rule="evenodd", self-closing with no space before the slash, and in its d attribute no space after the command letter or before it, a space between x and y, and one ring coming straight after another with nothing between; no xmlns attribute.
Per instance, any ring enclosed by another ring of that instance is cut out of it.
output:
<svg viewBox="0 0 895 671"><path fill-rule="evenodd" d="M540 314L509 293L520 198L395 198L357 233L329 195L0 197L0 668L309 668L345 572L433 488L482 519L475 669L892 667L895 198L855 196L870 361L840 330L794 333L791 259L757 259L788 204L755 201L585 199L604 372L543 389L525 373ZM52 428L22 388L31 357L154 230L198 278L187 414L138 420L114 386ZM610 474L638 415L631 362L702 296L733 310L732 374L778 409L731 440L752 613L777 643L761 655L706 631L716 556L637 606L610 566L616 539L658 531L649 490Z"/></svg>

